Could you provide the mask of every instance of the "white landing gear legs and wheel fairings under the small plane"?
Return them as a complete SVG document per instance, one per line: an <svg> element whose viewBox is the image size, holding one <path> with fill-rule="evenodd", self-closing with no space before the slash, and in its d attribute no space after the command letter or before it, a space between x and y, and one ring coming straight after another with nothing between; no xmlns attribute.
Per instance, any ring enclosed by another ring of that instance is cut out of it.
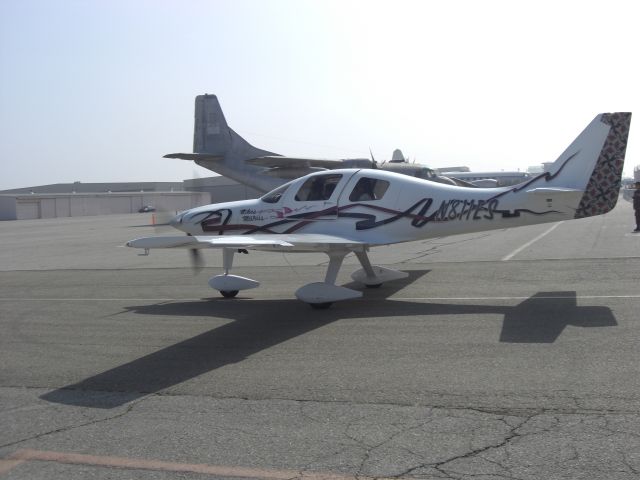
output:
<svg viewBox="0 0 640 480"><path fill-rule="evenodd" d="M398 270L371 265L365 248L361 250L330 250L325 252L329 256L329 266L327 267L324 282L309 283L300 287L296 290L296 298L316 309L329 308L333 302L360 298L362 292L335 284L344 257L352 251L358 258L362 268L351 274L351 278L356 282L363 283L368 288L377 288L384 282L405 278L408 275ZM216 275L209 279L211 288L219 290L222 296L226 298L235 297L240 290L256 288L260 285L259 282L250 278L229 273L233 265L234 253L235 250L232 248L224 248L222 250L224 274Z"/></svg>

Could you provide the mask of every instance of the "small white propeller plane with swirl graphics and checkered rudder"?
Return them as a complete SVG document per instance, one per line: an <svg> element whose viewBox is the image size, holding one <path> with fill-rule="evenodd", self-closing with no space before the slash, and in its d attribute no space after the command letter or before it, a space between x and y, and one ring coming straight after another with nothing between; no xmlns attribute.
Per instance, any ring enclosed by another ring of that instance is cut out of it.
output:
<svg viewBox="0 0 640 480"><path fill-rule="evenodd" d="M377 287L407 274L372 265L371 247L607 213L618 199L630 123L631 113L596 116L548 172L512 187L458 187L373 169L321 171L255 200L187 210L170 221L187 235L139 238L127 246L145 254L185 248L196 259L200 249L222 249L224 273L209 285L225 297L259 285L229 273L235 252L324 252L324 281L295 295L327 308L362 296L335 284L349 253L362 265L351 277Z"/></svg>

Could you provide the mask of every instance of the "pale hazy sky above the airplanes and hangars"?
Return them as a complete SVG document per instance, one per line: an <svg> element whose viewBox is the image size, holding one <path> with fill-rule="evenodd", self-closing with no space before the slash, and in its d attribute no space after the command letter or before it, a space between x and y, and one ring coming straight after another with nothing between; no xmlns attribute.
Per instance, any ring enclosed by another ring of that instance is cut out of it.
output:
<svg viewBox="0 0 640 480"><path fill-rule="evenodd" d="M640 114L628 1L0 1L0 189L179 181L194 97L288 155L515 170ZM632 120L625 173L640 164Z"/></svg>

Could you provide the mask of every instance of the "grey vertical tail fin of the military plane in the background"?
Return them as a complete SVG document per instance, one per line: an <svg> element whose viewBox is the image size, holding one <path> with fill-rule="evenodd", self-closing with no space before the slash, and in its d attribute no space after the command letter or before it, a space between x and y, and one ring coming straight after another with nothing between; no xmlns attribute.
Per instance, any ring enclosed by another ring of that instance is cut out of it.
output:
<svg viewBox="0 0 640 480"><path fill-rule="evenodd" d="M196 97L193 152L222 157L225 163L242 162L272 152L255 148L227 125L215 95Z"/></svg>

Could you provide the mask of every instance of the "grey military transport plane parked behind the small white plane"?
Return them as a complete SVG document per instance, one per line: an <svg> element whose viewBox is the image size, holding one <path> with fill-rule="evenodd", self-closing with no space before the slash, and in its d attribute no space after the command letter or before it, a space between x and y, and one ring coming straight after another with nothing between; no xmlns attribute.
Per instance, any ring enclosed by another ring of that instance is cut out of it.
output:
<svg viewBox="0 0 640 480"><path fill-rule="evenodd" d="M254 147L227 125L218 97L198 95L193 128L194 153L169 153L165 158L193 160L212 172L268 192L293 178L312 172L337 168L377 168L402 173L434 182L473 186L464 180L438 175L419 163L409 163L400 150L395 150L389 162L379 164L372 158L323 159L287 157Z"/></svg>

